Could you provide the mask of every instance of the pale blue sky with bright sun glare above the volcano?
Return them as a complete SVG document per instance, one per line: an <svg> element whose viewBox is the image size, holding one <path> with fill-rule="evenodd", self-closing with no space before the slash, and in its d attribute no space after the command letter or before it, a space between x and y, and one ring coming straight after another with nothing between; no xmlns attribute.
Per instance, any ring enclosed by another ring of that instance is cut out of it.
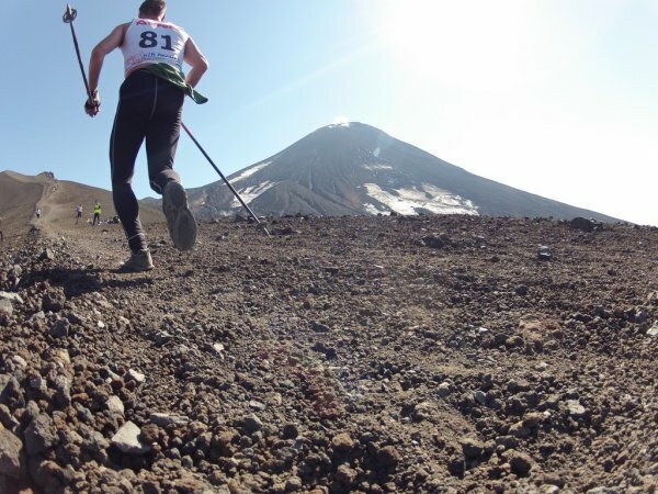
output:
<svg viewBox="0 0 658 494"><path fill-rule="evenodd" d="M78 0L84 66L139 1ZM170 0L211 68L183 120L225 175L345 119L476 175L658 225L655 0ZM110 189L122 56L84 89L66 3L5 0L0 170ZM13 46L12 46L13 44ZM11 53L11 49L15 53ZM141 155L135 190L148 188ZM218 180L186 136L186 187Z"/></svg>

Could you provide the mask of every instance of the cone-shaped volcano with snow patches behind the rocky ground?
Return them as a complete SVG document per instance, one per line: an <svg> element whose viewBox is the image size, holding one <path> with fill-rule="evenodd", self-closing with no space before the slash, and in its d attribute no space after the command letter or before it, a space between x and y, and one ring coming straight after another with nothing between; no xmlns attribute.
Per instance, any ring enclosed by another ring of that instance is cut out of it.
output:
<svg viewBox="0 0 658 494"><path fill-rule="evenodd" d="M263 215L433 213L616 221L478 177L362 123L321 127L228 180ZM200 217L240 210L223 181L189 194Z"/></svg>

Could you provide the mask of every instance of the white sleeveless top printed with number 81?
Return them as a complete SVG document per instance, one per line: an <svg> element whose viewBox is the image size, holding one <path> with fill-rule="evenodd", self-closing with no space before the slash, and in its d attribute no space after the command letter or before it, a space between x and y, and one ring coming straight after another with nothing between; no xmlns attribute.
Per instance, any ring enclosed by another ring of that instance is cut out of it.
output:
<svg viewBox="0 0 658 494"><path fill-rule="evenodd" d="M131 69L144 64L169 64L183 69L185 43L190 35L182 27L170 22L135 19L126 30L121 50L124 68Z"/></svg>

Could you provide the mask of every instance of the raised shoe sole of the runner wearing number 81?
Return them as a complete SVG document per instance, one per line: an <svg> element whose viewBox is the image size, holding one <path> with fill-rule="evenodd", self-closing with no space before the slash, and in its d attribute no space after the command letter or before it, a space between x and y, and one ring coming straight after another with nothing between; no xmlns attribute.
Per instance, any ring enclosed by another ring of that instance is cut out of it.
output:
<svg viewBox="0 0 658 494"><path fill-rule="evenodd" d="M162 212L173 245L179 250L190 250L196 243L196 221L188 206L185 189L178 182L169 182L162 193Z"/></svg>

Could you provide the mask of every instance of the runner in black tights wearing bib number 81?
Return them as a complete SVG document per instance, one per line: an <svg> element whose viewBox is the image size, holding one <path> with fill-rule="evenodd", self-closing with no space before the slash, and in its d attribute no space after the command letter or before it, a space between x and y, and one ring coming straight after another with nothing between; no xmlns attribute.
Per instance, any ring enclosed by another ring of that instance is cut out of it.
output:
<svg viewBox="0 0 658 494"><path fill-rule="evenodd" d="M93 48L89 63L93 100L88 100L84 109L89 116L95 116L103 60L118 47L124 55L125 80L110 141L110 161L114 207L133 252L122 269L129 271L154 267L131 187L135 159L145 138L150 187L162 194L162 211L173 245L189 250L196 240L196 222L181 179L173 171L173 161L185 94L196 103L207 101L194 87L208 64L183 29L164 22L166 10L164 1L146 0L139 7L138 19L117 25ZM192 67L186 77L183 61Z"/></svg>

